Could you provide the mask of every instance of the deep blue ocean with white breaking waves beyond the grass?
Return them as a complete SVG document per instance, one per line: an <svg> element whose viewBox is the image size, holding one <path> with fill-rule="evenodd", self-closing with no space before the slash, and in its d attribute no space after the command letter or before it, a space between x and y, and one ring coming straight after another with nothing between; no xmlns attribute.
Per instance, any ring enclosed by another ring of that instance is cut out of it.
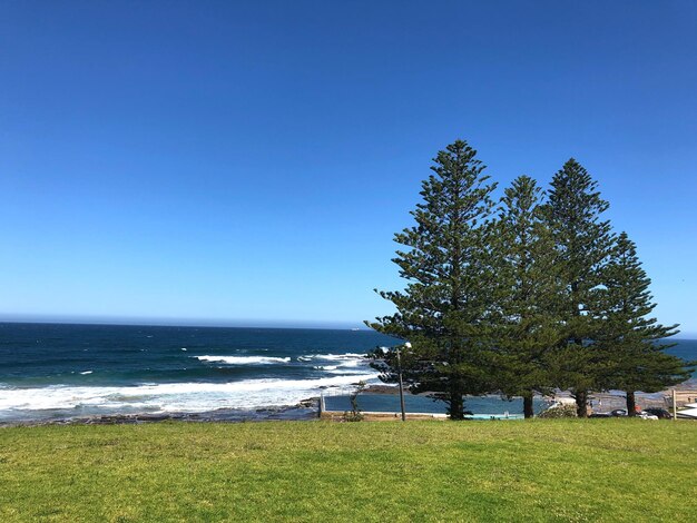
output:
<svg viewBox="0 0 697 523"><path fill-rule="evenodd" d="M363 356L396 343L352 329L2 323L0 423L277 412L320 394L345 397L360 381L380 383ZM697 359L697 341L670 352ZM394 409L393 396L365 401ZM442 411L428 398L412 402L414 411ZM472 407L517 413L518 403L479 398Z"/></svg>

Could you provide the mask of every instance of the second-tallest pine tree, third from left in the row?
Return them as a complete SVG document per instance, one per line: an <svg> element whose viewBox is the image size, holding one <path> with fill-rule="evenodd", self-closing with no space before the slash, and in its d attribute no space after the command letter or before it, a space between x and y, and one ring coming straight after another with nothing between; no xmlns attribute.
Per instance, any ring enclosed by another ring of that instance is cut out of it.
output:
<svg viewBox="0 0 697 523"><path fill-rule="evenodd" d="M607 208L597 182L573 158L552 178L546 214L563 285L556 306L565 328L552 368L557 385L576 397L581 417L587 416L588 392L605 387L607 362L596 342L602 329L602 268L612 239L609 221L601 219Z"/></svg>

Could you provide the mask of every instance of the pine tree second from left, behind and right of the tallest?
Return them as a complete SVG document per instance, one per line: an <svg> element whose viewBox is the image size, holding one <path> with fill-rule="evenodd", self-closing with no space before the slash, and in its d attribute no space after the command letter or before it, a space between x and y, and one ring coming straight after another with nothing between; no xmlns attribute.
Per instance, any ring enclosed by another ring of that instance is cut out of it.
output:
<svg viewBox="0 0 697 523"><path fill-rule="evenodd" d="M501 198L492 240L500 289L492 372L502 393L523 397L527 418L533 415L533 394L551 388L548 358L560 333L554 304L561 288L542 198L532 178L513 180Z"/></svg>

